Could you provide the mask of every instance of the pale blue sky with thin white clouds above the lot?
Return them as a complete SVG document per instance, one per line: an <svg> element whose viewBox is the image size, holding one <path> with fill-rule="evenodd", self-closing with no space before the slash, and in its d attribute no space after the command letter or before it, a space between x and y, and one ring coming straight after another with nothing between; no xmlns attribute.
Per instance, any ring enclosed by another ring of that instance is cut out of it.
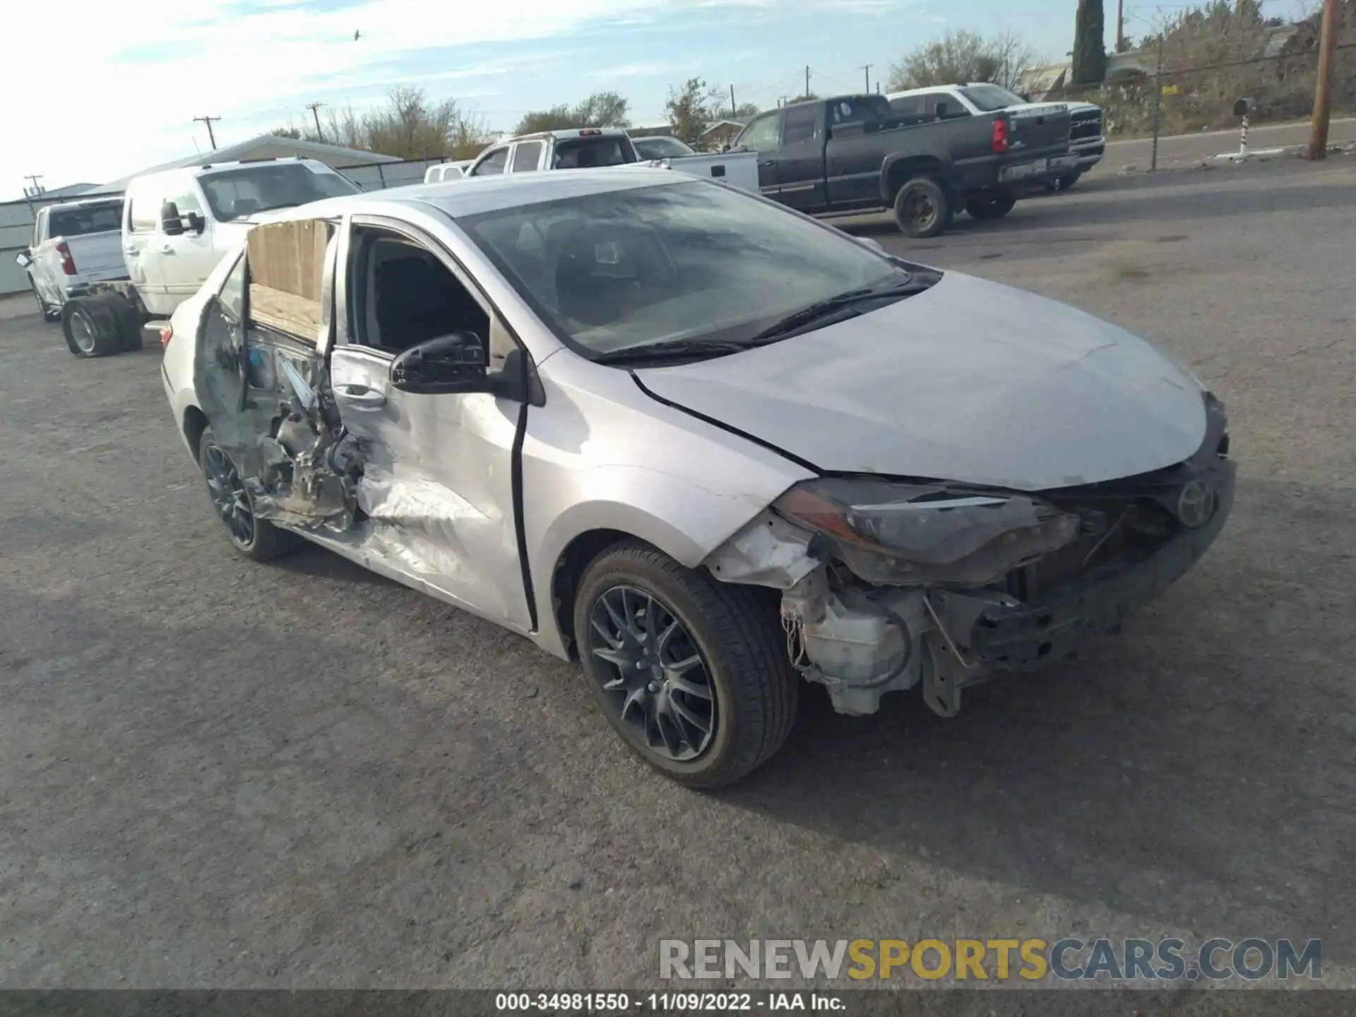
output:
<svg viewBox="0 0 1356 1017"><path fill-rule="evenodd" d="M1138 7L1139 0L1127 0ZM393 85L458 99L494 129L589 92L660 122L687 77L774 106L888 77L946 28L1014 28L1051 60L1073 42L1077 0L64 0L60 18L8 4L0 65L0 201L102 183L289 121L313 100L355 107ZM1115 20L1115 0L1106 0ZM1143 8L1150 9L1150 8ZM1128 31L1134 30L1134 24ZM361 33L354 39L354 33ZM1113 28L1108 26L1108 34ZM1134 34L1134 31L1132 31Z"/></svg>

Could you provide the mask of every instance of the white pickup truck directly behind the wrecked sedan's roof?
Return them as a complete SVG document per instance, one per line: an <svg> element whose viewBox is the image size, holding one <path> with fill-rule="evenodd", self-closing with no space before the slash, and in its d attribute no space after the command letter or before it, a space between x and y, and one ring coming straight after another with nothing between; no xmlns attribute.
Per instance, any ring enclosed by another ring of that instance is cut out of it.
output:
<svg viewBox="0 0 1356 1017"><path fill-rule="evenodd" d="M689 149L690 152L690 149ZM647 159L620 127L576 127L522 134L491 145L464 171L464 176L584 170L610 165L650 165L713 179L758 194L758 153L717 152ZM433 170L430 170L433 172ZM427 179L427 176L426 176Z"/></svg>

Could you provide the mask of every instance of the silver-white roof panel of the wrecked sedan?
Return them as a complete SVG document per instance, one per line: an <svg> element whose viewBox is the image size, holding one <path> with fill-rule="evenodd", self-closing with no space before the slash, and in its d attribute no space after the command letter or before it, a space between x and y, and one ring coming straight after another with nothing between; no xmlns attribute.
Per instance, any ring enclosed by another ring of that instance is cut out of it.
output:
<svg viewBox="0 0 1356 1017"><path fill-rule="evenodd" d="M445 183L416 183L385 191L325 198L309 205L279 210L278 216L270 221L327 218L348 213L381 214L382 210L389 212L392 206L419 205L431 205L449 218L461 218L481 212L540 205L561 198L583 198L590 194L610 194L681 183L701 183L701 179L674 170L654 170L640 164L602 170L556 170L553 172L468 176Z"/></svg>

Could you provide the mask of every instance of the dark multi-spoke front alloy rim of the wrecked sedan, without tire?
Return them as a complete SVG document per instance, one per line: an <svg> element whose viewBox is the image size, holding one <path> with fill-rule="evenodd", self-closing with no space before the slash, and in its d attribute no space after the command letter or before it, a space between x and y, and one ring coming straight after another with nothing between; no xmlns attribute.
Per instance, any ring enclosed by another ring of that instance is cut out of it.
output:
<svg viewBox="0 0 1356 1017"><path fill-rule="evenodd" d="M711 667L692 633L654 594L613 586L589 617L589 654L609 708L652 753L698 758L719 723Z"/></svg>

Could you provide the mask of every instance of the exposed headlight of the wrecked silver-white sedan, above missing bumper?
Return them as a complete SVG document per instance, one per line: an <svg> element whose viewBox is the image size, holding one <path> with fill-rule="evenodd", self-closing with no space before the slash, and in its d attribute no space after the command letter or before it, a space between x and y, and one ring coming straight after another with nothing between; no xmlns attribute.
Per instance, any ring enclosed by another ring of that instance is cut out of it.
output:
<svg viewBox="0 0 1356 1017"><path fill-rule="evenodd" d="M773 509L827 537L858 578L888 586L987 586L1081 527L1026 495L850 477L796 484Z"/></svg>

